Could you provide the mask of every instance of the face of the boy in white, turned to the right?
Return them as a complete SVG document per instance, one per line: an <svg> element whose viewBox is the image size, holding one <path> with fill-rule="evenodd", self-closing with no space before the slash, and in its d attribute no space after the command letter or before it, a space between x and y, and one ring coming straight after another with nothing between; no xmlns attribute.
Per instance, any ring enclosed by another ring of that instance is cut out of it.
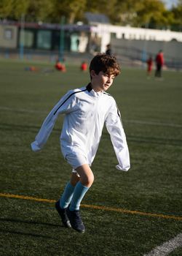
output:
<svg viewBox="0 0 182 256"><path fill-rule="evenodd" d="M107 91L108 88L112 85L115 78L114 75L106 74L103 71L100 71L97 75L95 74L95 71L92 70L90 72L90 75L92 77L92 89L94 89L95 91Z"/></svg>

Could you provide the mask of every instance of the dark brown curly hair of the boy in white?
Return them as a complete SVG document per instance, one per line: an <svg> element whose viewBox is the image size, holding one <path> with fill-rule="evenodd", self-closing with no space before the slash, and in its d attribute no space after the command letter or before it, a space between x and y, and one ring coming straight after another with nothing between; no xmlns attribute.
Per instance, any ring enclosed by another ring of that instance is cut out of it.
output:
<svg viewBox="0 0 182 256"><path fill-rule="evenodd" d="M121 69L119 63L116 61L116 57L110 56L105 53L98 53L90 62L90 72L91 70L95 71L95 74L98 75L100 71L108 75L119 75Z"/></svg>

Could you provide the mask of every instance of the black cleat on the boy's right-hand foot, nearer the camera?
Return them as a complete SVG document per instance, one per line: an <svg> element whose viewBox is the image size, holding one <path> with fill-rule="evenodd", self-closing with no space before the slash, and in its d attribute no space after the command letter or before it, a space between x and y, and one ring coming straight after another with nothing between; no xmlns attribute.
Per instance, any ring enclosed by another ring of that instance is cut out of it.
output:
<svg viewBox="0 0 182 256"><path fill-rule="evenodd" d="M70 211L70 209L68 207L68 208L66 208L66 214L71 223L71 227L80 233L84 233L84 224L82 222L82 218L79 213L79 210Z"/></svg>

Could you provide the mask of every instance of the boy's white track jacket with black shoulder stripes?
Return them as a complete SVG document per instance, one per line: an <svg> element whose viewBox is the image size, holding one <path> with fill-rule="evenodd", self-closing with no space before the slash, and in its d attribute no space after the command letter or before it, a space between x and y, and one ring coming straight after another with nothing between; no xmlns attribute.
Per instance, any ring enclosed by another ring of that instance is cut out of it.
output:
<svg viewBox="0 0 182 256"><path fill-rule="evenodd" d="M95 92L91 84L68 91L45 118L35 141L31 143L33 151L43 148L59 114L66 114L60 135L63 157L71 153L82 154L91 165L98 150L103 125L106 124L119 162L116 169L130 169L126 136L119 110L111 95L105 91Z"/></svg>

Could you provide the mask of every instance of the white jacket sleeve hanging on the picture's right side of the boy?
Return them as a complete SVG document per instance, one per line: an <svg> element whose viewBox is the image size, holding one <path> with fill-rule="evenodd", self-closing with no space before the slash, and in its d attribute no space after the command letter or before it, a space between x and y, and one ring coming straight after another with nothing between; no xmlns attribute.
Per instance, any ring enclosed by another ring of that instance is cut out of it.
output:
<svg viewBox="0 0 182 256"><path fill-rule="evenodd" d="M111 136L111 142L119 162L116 169L127 171L130 169L130 154L127 146L126 135L116 103L114 102L106 117L106 128Z"/></svg>

